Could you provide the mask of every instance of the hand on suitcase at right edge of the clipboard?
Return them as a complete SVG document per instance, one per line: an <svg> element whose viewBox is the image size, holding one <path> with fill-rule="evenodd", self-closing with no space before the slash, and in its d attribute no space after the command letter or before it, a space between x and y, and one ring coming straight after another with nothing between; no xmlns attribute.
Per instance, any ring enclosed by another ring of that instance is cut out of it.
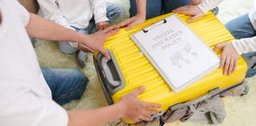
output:
<svg viewBox="0 0 256 126"><path fill-rule="evenodd" d="M238 65L238 52L234 49L231 42L218 44L214 47L214 50L216 49L222 49L221 65L219 68L224 66L223 74L230 76Z"/></svg>

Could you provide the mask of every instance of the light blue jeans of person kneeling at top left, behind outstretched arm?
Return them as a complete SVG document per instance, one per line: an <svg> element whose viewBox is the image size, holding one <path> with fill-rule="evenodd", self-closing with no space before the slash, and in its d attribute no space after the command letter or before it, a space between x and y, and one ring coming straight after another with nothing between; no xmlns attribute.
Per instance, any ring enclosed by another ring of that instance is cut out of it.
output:
<svg viewBox="0 0 256 126"><path fill-rule="evenodd" d="M106 2L106 17L109 18L110 24L114 25L118 22L122 22L122 19L125 18L126 10L123 6ZM77 32L84 33L84 34L90 34L95 33L97 31L94 17L90 20L89 26L87 26L86 29L78 29L74 26L72 26ZM62 53L71 54L76 53L78 51L77 48L72 47L68 42L66 41L59 41L58 47L61 49Z"/></svg>

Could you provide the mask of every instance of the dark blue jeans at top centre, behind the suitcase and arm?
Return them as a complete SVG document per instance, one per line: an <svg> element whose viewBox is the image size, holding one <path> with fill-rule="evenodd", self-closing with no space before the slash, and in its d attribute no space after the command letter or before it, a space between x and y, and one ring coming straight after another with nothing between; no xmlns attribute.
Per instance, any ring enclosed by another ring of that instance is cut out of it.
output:
<svg viewBox="0 0 256 126"><path fill-rule="evenodd" d="M190 4L190 0L146 0L146 19L170 13L180 6ZM136 0L130 0L130 17L137 14Z"/></svg>

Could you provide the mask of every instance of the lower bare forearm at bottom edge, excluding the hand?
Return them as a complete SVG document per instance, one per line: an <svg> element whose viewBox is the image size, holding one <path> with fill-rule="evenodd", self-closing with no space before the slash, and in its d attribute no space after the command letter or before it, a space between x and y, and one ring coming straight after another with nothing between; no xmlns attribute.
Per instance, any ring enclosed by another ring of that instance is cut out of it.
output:
<svg viewBox="0 0 256 126"><path fill-rule="evenodd" d="M96 108L90 110L72 110L68 112L68 126L101 126L111 120L122 117L121 104L114 104L105 108Z"/></svg>

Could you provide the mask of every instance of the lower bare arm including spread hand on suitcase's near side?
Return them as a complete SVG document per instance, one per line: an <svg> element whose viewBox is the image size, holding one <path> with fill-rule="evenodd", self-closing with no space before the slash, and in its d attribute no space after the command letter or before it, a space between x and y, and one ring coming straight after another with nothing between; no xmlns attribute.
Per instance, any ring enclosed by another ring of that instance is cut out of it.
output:
<svg viewBox="0 0 256 126"><path fill-rule="evenodd" d="M150 104L138 100L136 96L142 93L145 87L141 87L132 93L122 97L122 99L114 105L105 108L96 108L90 110L74 110L69 111L69 126L85 126L85 125L102 125L111 120L118 118L126 118L128 120L152 120L145 115L158 113L152 108L160 108L160 104ZM151 110L150 110L151 109Z"/></svg>

